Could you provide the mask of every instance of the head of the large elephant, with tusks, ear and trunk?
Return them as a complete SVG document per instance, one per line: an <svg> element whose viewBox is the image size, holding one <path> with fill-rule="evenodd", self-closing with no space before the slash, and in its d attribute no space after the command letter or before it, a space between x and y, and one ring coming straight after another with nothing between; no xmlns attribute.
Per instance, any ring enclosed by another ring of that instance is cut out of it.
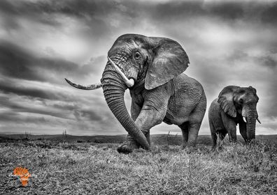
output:
<svg viewBox="0 0 277 195"><path fill-rule="evenodd" d="M108 51L108 62L101 84L71 86L94 89L102 86L108 107L125 130L145 149L150 146L145 135L129 116L124 102L127 88L147 90L166 84L185 71L189 59L178 42L169 38L146 37L136 34L120 36Z"/></svg>

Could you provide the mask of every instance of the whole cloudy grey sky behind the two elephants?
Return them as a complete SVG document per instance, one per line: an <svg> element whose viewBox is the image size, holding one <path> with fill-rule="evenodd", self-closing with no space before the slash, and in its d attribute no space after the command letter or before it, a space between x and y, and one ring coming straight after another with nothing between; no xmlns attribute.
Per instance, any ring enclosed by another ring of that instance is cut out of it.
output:
<svg viewBox="0 0 277 195"><path fill-rule="evenodd" d="M99 82L115 39L139 33L183 45L208 107L225 86L255 87L256 132L277 134L277 1L1 0L0 26L0 133L125 134L102 89L64 77ZM207 116L199 134L209 134ZM151 134L169 131L181 134L166 124Z"/></svg>

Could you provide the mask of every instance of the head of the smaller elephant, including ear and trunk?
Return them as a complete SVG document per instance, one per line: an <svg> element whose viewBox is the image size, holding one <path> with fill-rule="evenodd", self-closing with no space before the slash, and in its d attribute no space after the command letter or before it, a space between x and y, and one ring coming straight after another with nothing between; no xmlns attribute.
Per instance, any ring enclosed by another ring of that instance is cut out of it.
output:
<svg viewBox="0 0 277 195"><path fill-rule="evenodd" d="M257 114L257 91L252 86L227 86L218 95L218 103L223 111L234 118L242 117L246 123L248 141L255 139Z"/></svg>

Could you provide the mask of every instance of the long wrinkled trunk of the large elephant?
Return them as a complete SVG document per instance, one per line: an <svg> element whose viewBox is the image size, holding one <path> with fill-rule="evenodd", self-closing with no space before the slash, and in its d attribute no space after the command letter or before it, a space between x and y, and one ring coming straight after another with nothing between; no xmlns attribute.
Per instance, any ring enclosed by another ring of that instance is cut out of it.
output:
<svg viewBox="0 0 277 195"><path fill-rule="evenodd" d="M111 63L107 63L101 79L103 91L108 107L113 112L113 115L118 119L121 125L127 132L141 144L146 150L150 149L149 143L145 135L134 123L134 120L129 116L124 102L124 93L127 89L124 81L122 81L117 70L113 68Z"/></svg>

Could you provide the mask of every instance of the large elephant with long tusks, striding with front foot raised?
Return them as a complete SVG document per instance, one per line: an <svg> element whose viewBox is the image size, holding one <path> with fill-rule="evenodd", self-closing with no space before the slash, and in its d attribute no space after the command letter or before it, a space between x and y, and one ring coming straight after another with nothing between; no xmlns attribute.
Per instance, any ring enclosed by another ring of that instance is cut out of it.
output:
<svg viewBox="0 0 277 195"><path fill-rule="evenodd" d="M108 107L129 133L119 153L134 148L150 149L150 128L162 123L178 125L183 146L195 146L206 111L206 95L198 81L183 74L189 63L184 49L169 38L136 34L120 36L108 51L101 84L71 86L94 89L102 86ZM129 116L124 93L129 88Z"/></svg>

